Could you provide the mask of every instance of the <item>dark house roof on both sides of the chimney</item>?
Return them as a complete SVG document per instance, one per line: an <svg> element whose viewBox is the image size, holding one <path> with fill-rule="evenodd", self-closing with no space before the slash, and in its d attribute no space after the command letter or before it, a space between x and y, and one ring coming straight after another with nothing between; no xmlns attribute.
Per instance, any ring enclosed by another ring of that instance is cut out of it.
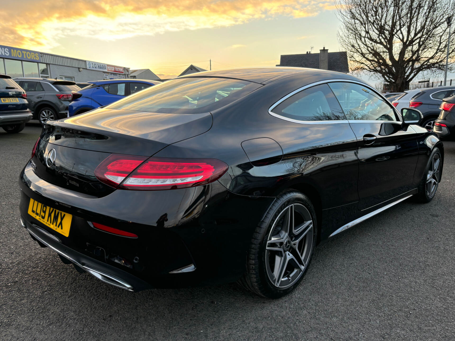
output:
<svg viewBox="0 0 455 341"><path fill-rule="evenodd" d="M281 55L280 64L277 66L308 67L319 69L319 53L302 53L299 55ZM348 53L329 52L329 70L349 72Z"/></svg>

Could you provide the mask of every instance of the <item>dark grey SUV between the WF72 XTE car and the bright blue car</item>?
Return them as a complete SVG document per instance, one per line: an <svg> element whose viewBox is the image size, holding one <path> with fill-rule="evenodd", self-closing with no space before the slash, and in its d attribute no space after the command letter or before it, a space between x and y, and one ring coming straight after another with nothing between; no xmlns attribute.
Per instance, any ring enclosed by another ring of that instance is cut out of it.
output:
<svg viewBox="0 0 455 341"><path fill-rule="evenodd" d="M27 93L33 118L43 124L68 116L71 91L79 90L75 82L51 78L17 77L17 84Z"/></svg>

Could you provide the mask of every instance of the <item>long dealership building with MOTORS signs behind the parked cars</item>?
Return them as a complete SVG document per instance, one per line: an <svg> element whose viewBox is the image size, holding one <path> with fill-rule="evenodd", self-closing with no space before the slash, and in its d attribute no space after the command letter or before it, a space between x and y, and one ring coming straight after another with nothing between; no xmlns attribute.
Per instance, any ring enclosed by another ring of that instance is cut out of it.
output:
<svg viewBox="0 0 455 341"><path fill-rule="evenodd" d="M130 69L0 45L0 74L10 75L12 78L42 77L87 82L129 78Z"/></svg>

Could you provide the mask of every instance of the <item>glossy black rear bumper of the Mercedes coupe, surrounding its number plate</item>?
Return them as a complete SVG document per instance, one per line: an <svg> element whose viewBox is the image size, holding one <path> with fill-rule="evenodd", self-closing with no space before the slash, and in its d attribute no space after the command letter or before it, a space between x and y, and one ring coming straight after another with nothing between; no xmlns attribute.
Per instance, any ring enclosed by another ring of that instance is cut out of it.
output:
<svg viewBox="0 0 455 341"><path fill-rule="evenodd" d="M254 229L274 200L236 195L217 181L172 191L116 190L97 198L44 181L30 162L22 171L19 184L20 214L29 232L34 232L46 246L51 241L53 250L69 259L61 254L62 249L66 250L71 261L81 264L84 270L88 271L87 265L102 270L124 280L134 291L146 287L134 284L135 278L155 288L236 281L243 274ZM69 236L30 216L30 198L71 214ZM89 221L123 229L138 238L97 230ZM57 239L45 239L46 234L37 228ZM133 261L136 257L137 262ZM121 272L113 272L112 268ZM132 277L126 281L123 273ZM108 282L106 278L99 279Z"/></svg>

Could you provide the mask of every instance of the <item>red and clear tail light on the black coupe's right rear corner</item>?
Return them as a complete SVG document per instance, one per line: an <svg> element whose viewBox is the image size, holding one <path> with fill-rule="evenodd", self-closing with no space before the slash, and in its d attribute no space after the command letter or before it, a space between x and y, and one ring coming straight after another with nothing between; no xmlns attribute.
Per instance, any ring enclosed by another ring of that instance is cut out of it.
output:
<svg viewBox="0 0 455 341"><path fill-rule="evenodd" d="M217 159L165 159L111 154L96 167L105 184L126 190L173 190L219 179L227 165Z"/></svg>

